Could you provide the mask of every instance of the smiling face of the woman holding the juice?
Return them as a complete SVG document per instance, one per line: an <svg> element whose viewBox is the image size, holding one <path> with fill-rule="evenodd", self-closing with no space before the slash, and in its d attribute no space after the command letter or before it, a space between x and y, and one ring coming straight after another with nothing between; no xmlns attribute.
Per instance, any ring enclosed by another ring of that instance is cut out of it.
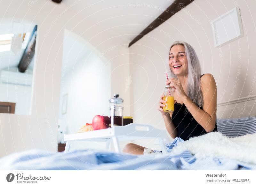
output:
<svg viewBox="0 0 256 186"><path fill-rule="evenodd" d="M175 75L188 73L188 60L183 45L174 45L170 50L169 66Z"/></svg>

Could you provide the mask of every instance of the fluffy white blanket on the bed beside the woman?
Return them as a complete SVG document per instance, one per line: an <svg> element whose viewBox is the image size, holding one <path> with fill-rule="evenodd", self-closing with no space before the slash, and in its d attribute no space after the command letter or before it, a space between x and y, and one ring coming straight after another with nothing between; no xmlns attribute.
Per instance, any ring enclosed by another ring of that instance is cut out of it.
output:
<svg viewBox="0 0 256 186"><path fill-rule="evenodd" d="M178 143L177 147L172 149L171 154L179 154L184 150L189 150L195 154L197 159L227 157L256 164L256 133L229 138L220 132L210 132L190 138L184 143Z"/></svg>

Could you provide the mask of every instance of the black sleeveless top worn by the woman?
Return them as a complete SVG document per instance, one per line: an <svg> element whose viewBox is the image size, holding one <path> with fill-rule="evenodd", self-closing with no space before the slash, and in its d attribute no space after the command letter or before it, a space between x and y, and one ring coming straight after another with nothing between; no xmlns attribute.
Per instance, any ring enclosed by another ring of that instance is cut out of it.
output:
<svg viewBox="0 0 256 186"><path fill-rule="evenodd" d="M201 77L203 75L201 75ZM203 108L200 107L200 109ZM190 137L201 136L207 133L204 128L196 122L192 114L189 111L186 112L186 106L184 104L174 104L172 123L178 131L177 137L180 137L183 140L188 140ZM215 121L215 128L213 131L217 131L217 121Z"/></svg>

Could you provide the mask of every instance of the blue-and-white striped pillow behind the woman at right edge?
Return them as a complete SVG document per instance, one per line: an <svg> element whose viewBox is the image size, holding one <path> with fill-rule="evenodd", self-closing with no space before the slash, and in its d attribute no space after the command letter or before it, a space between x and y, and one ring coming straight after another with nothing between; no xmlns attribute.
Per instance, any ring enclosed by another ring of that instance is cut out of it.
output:
<svg viewBox="0 0 256 186"><path fill-rule="evenodd" d="M256 116L245 118L217 119L218 131L228 137L256 133Z"/></svg>

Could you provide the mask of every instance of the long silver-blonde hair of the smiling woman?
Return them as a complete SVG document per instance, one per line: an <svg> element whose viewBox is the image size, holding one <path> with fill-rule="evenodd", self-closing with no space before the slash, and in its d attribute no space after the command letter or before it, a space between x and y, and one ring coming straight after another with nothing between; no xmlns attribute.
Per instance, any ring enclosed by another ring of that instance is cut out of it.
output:
<svg viewBox="0 0 256 186"><path fill-rule="evenodd" d="M196 55L196 51L193 47L184 42L184 41L175 41L171 48L175 45L183 45L185 47L185 53L188 59L188 80L187 80L187 90L188 90L188 97L193 100L193 102L201 107L203 106L203 94L200 88L200 75L201 75L201 66ZM171 70L171 68L170 68ZM176 78L176 75L171 70L171 75L173 78ZM188 111L188 110L187 110Z"/></svg>

